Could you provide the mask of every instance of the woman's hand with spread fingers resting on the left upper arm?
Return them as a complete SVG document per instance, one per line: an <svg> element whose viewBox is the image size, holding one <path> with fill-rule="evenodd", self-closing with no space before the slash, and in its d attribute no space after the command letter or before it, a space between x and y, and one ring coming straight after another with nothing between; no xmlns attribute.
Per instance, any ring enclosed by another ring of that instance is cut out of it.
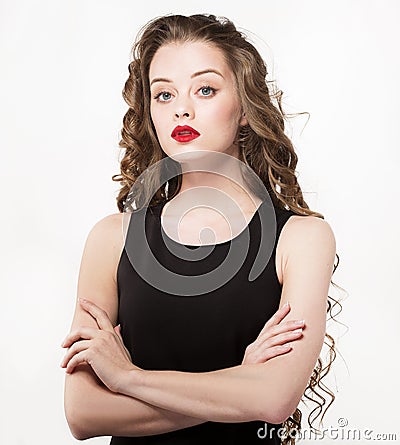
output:
<svg viewBox="0 0 400 445"><path fill-rule="evenodd" d="M140 368L132 363L119 328L114 329L107 313L88 300L79 299L79 303L96 320L99 329L80 326L70 332L61 345L69 348L61 367L72 374L77 365L88 363L111 391L119 392L127 373Z"/></svg>

